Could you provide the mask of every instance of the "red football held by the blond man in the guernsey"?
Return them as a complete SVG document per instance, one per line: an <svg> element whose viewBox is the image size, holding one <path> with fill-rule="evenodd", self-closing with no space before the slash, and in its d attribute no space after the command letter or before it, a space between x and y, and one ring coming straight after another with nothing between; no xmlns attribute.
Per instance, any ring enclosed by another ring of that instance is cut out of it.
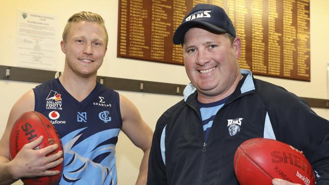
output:
<svg viewBox="0 0 329 185"><path fill-rule="evenodd" d="M36 147L34 150L43 149L49 145L58 144L58 148L53 152L63 151L63 146L60 137L53 126L53 124L43 114L30 111L25 112L18 117L10 133L9 144L10 144L10 158L14 159L17 153L22 147L30 143L40 135L44 136L43 142ZM48 155L51 155L50 153ZM51 168L50 170L59 170L63 172L63 163ZM22 178L24 184L31 185L42 185L42 184L58 184L61 178L61 173L54 176L43 176L35 178Z"/></svg>

